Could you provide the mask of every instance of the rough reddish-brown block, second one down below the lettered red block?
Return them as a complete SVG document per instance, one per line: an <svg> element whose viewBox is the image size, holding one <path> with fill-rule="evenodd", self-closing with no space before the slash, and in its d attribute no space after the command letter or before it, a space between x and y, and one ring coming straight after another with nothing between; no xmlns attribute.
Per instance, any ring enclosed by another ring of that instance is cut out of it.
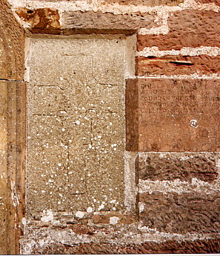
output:
<svg viewBox="0 0 220 256"><path fill-rule="evenodd" d="M220 193L144 193L143 224L160 232L218 233Z"/></svg>

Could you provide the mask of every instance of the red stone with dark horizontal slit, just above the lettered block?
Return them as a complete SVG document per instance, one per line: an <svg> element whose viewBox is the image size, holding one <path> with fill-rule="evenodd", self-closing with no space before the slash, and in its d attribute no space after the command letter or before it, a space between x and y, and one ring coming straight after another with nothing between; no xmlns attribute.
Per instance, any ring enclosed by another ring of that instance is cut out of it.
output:
<svg viewBox="0 0 220 256"><path fill-rule="evenodd" d="M164 56L137 57L136 76L147 75L209 75L220 73L220 56Z"/></svg>

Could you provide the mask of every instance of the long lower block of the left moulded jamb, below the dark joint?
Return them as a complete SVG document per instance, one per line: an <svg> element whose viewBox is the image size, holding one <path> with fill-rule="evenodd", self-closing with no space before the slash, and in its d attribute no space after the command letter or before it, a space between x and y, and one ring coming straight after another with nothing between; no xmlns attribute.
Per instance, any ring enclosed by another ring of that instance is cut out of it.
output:
<svg viewBox="0 0 220 256"><path fill-rule="evenodd" d="M0 81L0 253L19 253L24 202L25 83Z"/></svg>

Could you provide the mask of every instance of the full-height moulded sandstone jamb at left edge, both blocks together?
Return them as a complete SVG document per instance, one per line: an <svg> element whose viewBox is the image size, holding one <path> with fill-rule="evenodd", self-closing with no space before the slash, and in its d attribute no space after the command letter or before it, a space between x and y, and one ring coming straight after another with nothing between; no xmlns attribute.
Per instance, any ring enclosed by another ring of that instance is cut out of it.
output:
<svg viewBox="0 0 220 256"><path fill-rule="evenodd" d="M23 29L0 3L0 254L19 254L24 202L26 84Z"/></svg>

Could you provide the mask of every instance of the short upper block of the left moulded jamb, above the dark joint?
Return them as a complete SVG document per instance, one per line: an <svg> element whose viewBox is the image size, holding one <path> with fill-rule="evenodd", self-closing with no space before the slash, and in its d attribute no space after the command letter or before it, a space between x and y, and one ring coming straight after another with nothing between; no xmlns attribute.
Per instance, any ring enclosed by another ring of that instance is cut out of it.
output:
<svg viewBox="0 0 220 256"><path fill-rule="evenodd" d="M23 79L23 29L6 0L0 3L0 78Z"/></svg>

